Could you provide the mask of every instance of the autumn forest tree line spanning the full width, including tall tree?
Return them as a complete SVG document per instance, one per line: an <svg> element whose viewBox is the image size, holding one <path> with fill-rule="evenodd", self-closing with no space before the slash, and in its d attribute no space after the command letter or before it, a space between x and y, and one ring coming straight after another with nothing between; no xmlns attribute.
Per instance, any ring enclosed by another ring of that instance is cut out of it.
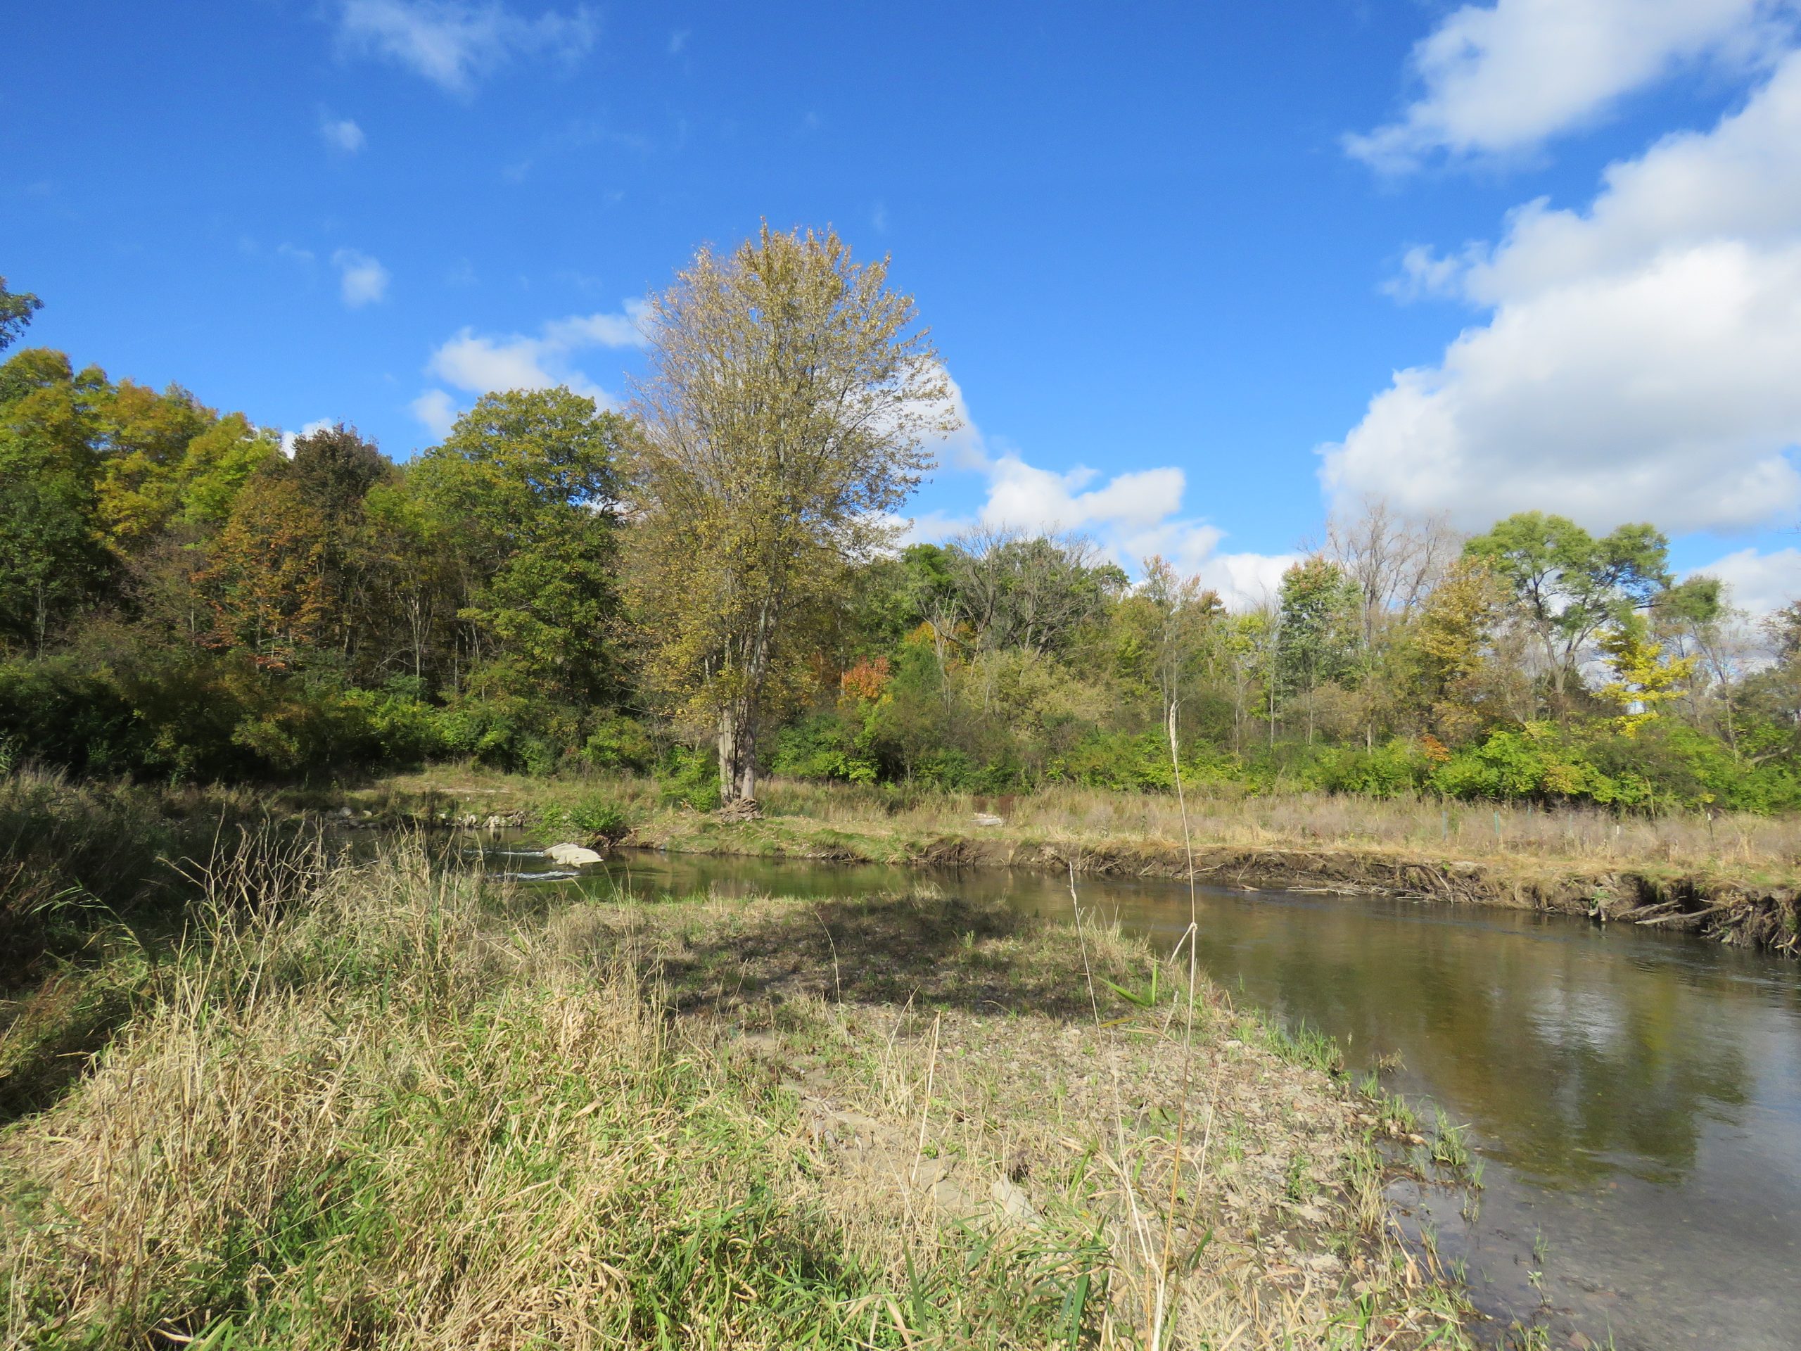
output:
<svg viewBox="0 0 1801 1351"><path fill-rule="evenodd" d="M0 283L0 346L34 308ZM1801 609L1751 625L1650 524L1459 537L1371 504L1235 607L1075 537L897 548L951 423L882 263L765 229L650 313L630 409L493 393L407 463L16 349L0 758L475 760L708 807L762 773L1160 791L1174 742L1253 791L1801 807Z"/></svg>

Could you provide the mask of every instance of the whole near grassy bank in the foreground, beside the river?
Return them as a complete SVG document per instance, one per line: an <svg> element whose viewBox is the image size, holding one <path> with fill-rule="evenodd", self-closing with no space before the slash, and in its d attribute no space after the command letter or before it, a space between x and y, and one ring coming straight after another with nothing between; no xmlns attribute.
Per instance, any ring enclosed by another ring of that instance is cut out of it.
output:
<svg viewBox="0 0 1801 1351"><path fill-rule="evenodd" d="M411 845L191 913L0 1135L9 1346L1462 1344L1396 1124L1093 922L546 904Z"/></svg>

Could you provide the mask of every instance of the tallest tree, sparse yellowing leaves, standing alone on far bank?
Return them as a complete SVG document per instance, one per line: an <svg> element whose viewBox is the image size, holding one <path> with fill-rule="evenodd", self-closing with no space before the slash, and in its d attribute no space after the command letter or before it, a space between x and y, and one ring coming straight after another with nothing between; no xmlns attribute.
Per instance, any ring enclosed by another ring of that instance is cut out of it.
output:
<svg viewBox="0 0 1801 1351"><path fill-rule="evenodd" d="M648 306L638 387L639 571L652 670L713 721L728 800L756 787L765 704L798 620L890 533L956 427L949 382L888 263L827 231L702 249Z"/></svg>

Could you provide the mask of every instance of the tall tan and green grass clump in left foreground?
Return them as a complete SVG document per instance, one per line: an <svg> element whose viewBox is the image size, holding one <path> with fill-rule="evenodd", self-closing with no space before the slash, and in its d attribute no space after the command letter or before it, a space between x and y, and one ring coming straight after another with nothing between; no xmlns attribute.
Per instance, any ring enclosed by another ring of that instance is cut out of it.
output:
<svg viewBox="0 0 1801 1351"><path fill-rule="evenodd" d="M787 1346L854 1293L767 1086L416 850L209 877L92 1079L14 1128L9 1346ZM758 1108L769 1108L760 1111Z"/></svg>

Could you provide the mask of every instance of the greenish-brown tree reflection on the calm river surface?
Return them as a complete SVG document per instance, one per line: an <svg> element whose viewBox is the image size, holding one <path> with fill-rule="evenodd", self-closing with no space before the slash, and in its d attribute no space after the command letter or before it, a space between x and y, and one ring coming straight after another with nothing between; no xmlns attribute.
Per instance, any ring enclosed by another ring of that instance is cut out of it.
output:
<svg viewBox="0 0 1801 1351"><path fill-rule="evenodd" d="M1138 888L1113 901L1138 920L1187 910ZM1567 922L1210 897L1201 929L1216 980L1349 1038L1354 1065L1399 1050L1403 1088L1430 1088L1543 1185L1686 1174L1707 1115L1747 1101L1745 1047L1770 1016L1767 991L1733 978L1754 958Z"/></svg>

